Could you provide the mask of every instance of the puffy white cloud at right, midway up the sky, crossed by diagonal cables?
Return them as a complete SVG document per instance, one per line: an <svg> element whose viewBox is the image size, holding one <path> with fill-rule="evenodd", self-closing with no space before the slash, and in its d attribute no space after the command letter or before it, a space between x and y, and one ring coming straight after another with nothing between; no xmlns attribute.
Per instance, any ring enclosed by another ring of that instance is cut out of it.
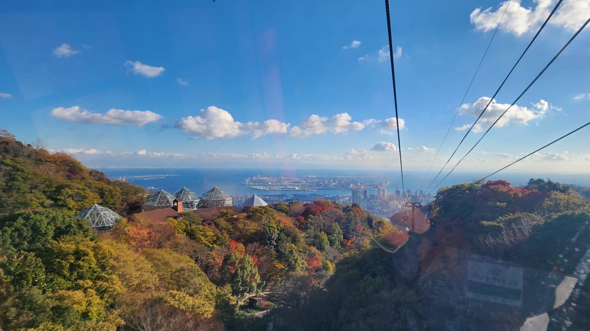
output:
<svg viewBox="0 0 590 331"><path fill-rule="evenodd" d="M486 107L487 103L490 101L489 97L481 97L473 104L463 104L459 108L460 114L462 115L473 115L477 117L482 110ZM542 118L543 115L552 107L548 102L545 100L541 100L537 102L535 105L536 109L527 108L519 105L513 105L509 111L504 114L502 118L496 123L497 127L503 127L511 122L517 122L522 124L528 124L529 121ZM477 124L492 124L500 115L508 108L510 104L499 104L496 100L492 100L490 105L487 107L486 112L481 115L480 120ZM476 124L476 125L477 125ZM466 124L468 125L468 124ZM468 126L462 125L461 127L455 128L457 131L466 130ZM462 130L461 130L462 129ZM482 127L480 128L473 128L473 132L481 132L483 130Z"/></svg>

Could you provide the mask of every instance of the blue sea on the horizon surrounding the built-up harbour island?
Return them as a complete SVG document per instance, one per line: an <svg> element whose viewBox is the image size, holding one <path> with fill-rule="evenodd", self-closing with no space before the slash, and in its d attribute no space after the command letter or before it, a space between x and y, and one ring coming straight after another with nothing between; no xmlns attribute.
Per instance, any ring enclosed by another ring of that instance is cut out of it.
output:
<svg viewBox="0 0 590 331"><path fill-rule="evenodd" d="M245 196L251 194L258 195L313 195L313 196L350 196L351 190L317 190L317 191L260 191L254 190L247 185L241 184L246 178L252 178L260 175L264 177L299 177L313 176L314 178L352 178L365 181L388 181L387 187L389 193L393 193L396 188L402 190L417 189L426 190L430 185L436 172L429 173L421 170L404 171L404 181L399 171L379 171L379 170L309 170L309 169L219 169L219 168L99 168L110 179L126 180L128 183L146 188L148 191L166 190L175 193L183 187L189 188L195 193L201 195L214 186L222 188L234 196ZM445 174L445 173L443 173ZM476 171L454 171L448 176L440 186L451 186L459 183L471 183L486 174ZM441 175L442 177L442 175ZM544 178L558 181L559 183L578 184L590 186L590 174L536 174L527 173L526 171L514 173L499 173L487 178L488 180L507 180L513 186L524 186L530 178ZM437 179L438 183L440 179ZM435 183L435 184L436 184ZM432 194L436 194L438 187L432 187ZM376 190L369 190L369 194L376 194Z"/></svg>

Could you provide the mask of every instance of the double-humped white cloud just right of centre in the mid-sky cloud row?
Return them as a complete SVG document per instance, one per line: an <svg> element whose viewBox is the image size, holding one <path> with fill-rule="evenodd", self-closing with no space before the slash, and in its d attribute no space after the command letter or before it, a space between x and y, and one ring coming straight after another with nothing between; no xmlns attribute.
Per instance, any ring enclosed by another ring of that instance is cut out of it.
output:
<svg viewBox="0 0 590 331"><path fill-rule="evenodd" d="M291 137L307 137L312 134L322 134L327 131L331 133L346 133L349 130L359 131L365 128L365 124L352 121L348 112L336 114L332 118L320 117L313 114L307 117L299 125L289 131Z"/></svg>

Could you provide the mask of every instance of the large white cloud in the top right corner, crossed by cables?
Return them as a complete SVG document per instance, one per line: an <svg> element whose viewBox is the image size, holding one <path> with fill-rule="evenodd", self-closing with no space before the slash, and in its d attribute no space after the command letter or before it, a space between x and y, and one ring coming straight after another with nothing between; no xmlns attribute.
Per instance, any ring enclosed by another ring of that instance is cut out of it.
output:
<svg viewBox="0 0 590 331"><path fill-rule="evenodd" d="M520 36L526 32L536 29L549 16L553 1L535 0L535 8L523 7L520 1L504 1L499 8L493 11L492 8L481 10L475 9L470 14L471 24L474 24L478 31L490 31L495 29L504 11L506 14L501 21L500 29L505 32ZM560 6L555 16L549 23L560 27L576 30L590 16L590 2L587 0L566 0Z"/></svg>

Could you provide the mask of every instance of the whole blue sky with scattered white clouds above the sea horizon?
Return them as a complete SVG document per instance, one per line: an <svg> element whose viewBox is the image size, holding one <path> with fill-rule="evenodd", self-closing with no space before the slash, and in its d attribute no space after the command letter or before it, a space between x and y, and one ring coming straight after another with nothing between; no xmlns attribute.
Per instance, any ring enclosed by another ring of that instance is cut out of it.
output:
<svg viewBox="0 0 590 331"><path fill-rule="evenodd" d="M430 165L506 5L392 2L408 168ZM510 2L435 166L553 5ZM483 129L589 16L589 0L563 2ZM0 127L89 166L398 163L381 1L8 1L0 29ZM501 167L589 120L589 29L459 168ZM480 135L471 133L457 155ZM589 172L587 141L590 130L581 131L515 169Z"/></svg>

